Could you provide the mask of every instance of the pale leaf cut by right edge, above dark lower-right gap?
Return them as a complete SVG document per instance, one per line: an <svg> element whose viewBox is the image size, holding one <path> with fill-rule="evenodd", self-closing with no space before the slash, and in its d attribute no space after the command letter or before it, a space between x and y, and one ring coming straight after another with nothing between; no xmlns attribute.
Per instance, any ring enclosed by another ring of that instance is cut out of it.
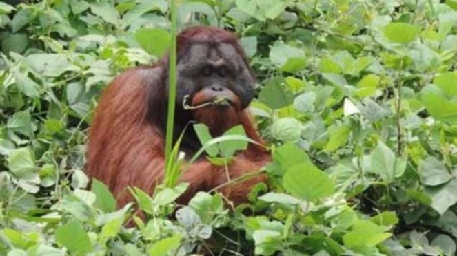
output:
<svg viewBox="0 0 457 256"><path fill-rule="evenodd" d="M457 203L457 178L440 186L426 186L425 193L431 197L431 207L443 214Z"/></svg>

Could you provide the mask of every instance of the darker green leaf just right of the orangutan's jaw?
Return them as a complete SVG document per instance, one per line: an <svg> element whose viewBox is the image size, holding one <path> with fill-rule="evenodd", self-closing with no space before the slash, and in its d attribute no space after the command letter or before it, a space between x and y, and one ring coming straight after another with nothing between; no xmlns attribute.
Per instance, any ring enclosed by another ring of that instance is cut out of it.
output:
<svg viewBox="0 0 457 256"><path fill-rule="evenodd" d="M280 109L290 105L294 100L294 96L285 89L284 78L276 77L270 79L267 85L262 88L258 99L272 109Z"/></svg>

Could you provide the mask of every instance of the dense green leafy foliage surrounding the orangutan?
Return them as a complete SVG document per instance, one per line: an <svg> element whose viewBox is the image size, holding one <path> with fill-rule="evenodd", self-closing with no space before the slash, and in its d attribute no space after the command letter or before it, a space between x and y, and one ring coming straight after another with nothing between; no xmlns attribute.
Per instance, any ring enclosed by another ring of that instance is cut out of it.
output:
<svg viewBox="0 0 457 256"><path fill-rule="evenodd" d="M456 10L180 1L180 28L241 38L270 189L237 209L201 192L178 211L185 184L136 191L143 223L100 182L85 189L85 139L101 89L166 52L167 1L0 2L0 255L454 255Z"/></svg>

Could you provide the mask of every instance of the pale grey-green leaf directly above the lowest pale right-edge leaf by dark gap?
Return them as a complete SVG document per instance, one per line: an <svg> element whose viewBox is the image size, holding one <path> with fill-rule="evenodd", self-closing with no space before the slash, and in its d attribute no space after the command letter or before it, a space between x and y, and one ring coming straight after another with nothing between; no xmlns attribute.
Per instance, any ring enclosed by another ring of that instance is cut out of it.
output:
<svg viewBox="0 0 457 256"><path fill-rule="evenodd" d="M420 165L420 172L423 184L427 186L437 186L451 180L452 175L447 171L443 162L434 158L427 157Z"/></svg>

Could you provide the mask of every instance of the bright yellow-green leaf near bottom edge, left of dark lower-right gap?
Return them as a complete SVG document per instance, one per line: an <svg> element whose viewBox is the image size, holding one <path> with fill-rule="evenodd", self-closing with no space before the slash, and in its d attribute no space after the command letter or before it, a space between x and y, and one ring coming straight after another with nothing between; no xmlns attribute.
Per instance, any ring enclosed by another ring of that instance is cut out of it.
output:
<svg viewBox="0 0 457 256"><path fill-rule="evenodd" d="M358 220L354 222L352 231L343 235L343 243L349 249L356 252L363 252L363 248L376 246L392 235L384 231L385 228L373 222Z"/></svg>

